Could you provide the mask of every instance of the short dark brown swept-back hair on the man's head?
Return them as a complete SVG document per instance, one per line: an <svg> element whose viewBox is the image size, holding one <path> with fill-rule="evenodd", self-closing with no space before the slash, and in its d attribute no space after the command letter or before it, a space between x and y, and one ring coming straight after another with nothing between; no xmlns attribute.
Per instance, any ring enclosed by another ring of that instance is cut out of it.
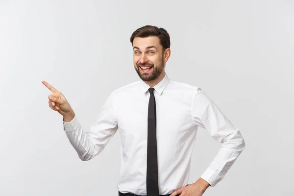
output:
<svg viewBox="0 0 294 196"><path fill-rule="evenodd" d="M170 35L168 31L164 28L158 28L157 26L146 25L138 28L131 35L130 41L133 45L135 37L150 37L156 36L160 40L160 44L163 47L163 50L171 47Z"/></svg>

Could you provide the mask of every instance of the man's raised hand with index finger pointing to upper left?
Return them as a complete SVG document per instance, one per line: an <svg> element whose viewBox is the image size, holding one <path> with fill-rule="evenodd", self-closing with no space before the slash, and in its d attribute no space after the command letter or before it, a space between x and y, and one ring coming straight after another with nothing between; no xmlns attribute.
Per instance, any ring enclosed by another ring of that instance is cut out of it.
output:
<svg viewBox="0 0 294 196"><path fill-rule="evenodd" d="M72 121L74 117L74 112L66 98L62 95L61 92L57 91L46 81L42 81L42 83L52 92L52 94L48 96L49 107L52 110L57 111L59 114L61 114L65 122Z"/></svg>

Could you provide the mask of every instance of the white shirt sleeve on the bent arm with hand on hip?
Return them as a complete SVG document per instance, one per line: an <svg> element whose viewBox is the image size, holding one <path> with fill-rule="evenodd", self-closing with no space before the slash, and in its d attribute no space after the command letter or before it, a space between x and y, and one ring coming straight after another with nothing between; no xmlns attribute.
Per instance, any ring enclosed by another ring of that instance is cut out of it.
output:
<svg viewBox="0 0 294 196"><path fill-rule="evenodd" d="M223 179L244 150L245 141L239 128L226 118L218 106L200 88L194 92L192 113L194 122L207 129L216 141L222 143L221 149L201 175L201 178L214 187Z"/></svg>

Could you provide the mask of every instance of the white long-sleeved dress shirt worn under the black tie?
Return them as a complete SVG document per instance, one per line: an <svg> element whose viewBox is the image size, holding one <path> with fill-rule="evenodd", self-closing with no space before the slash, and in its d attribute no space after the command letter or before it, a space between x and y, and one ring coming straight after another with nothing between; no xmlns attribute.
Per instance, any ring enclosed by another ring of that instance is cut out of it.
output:
<svg viewBox="0 0 294 196"><path fill-rule="evenodd" d="M84 131L76 115L64 122L65 133L83 161L93 159L119 130L121 168L117 189L147 195L147 115L150 87L139 80L114 90L96 122ZM200 176L211 186L224 177L245 148L239 129L199 87L165 77L153 87L157 118L159 194L188 184L197 127L207 129L222 147ZM213 157L212 157L213 158Z"/></svg>

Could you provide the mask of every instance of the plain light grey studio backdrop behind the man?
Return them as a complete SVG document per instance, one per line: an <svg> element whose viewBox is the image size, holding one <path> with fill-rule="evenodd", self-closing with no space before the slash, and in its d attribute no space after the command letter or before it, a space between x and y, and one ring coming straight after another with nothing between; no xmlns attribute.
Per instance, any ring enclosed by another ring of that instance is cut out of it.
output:
<svg viewBox="0 0 294 196"><path fill-rule="evenodd" d="M293 0L0 0L0 195L118 195L119 132L81 161L42 80L89 129L113 90L140 79L129 38L144 25L170 33L169 77L200 87L244 136L204 196L293 196ZM189 183L221 147L198 130Z"/></svg>

